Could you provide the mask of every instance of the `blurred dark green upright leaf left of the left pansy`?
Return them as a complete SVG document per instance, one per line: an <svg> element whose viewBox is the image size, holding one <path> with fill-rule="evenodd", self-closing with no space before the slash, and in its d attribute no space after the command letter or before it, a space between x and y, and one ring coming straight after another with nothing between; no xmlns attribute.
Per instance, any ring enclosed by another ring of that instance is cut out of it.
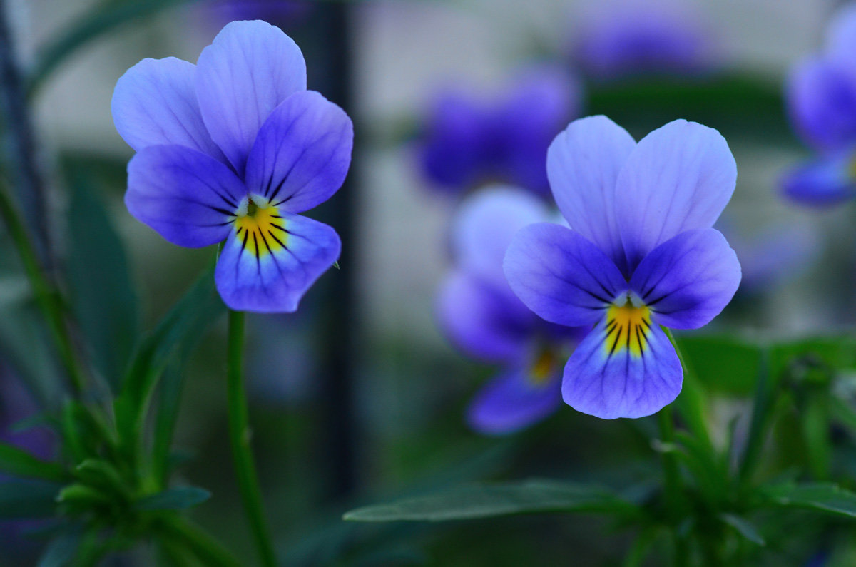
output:
<svg viewBox="0 0 856 567"><path fill-rule="evenodd" d="M92 361L113 391L119 389L134 340L139 335L137 295L122 239L104 203L76 168L69 172L68 284Z"/></svg>

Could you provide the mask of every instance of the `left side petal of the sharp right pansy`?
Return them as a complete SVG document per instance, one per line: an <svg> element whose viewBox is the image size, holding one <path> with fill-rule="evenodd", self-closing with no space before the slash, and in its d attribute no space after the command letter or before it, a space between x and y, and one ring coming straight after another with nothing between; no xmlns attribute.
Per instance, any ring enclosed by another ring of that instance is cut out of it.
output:
<svg viewBox="0 0 856 567"><path fill-rule="evenodd" d="M521 229L505 254L505 275L520 300L560 325L591 325L627 282L597 246L559 224Z"/></svg>

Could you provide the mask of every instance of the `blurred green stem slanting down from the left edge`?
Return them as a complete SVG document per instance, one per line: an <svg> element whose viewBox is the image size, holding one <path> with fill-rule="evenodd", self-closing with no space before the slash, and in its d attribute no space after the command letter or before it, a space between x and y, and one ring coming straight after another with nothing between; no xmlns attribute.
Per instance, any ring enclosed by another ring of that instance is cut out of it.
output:
<svg viewBox="0 0 856 567"><path fill-rule="evenodd" d="M80 393L84 387L83 372L80 370L80 365L74 354L74 343L71 340L71 335L68 333L68 326L66 326L62 298L59 291L45 277L45 273L42 272L38 257L33 248L33 242L27 234L27 229L21 222L21 216L15 210L15 206L9 199L9 195L6 194L5 189L5 185L0 188L0 216L3 216L3 222L6 223L9 236L12 237L12 242L15 242L18 254L21 255L24 272L27 273L27 279L29 279L30 285L33 288L36 301L42 313L45 314L48 327L56 341L60 360L68 373L68 377L71 379L71 385L74 387L74 391Z"/></svg>

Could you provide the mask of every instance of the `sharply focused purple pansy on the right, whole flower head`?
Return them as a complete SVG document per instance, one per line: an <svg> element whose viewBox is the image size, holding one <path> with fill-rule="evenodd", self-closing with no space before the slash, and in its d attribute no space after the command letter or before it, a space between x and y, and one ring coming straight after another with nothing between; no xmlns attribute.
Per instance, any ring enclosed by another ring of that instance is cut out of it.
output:
<svg viewBox="0 0 856 567"><path fill-rule="evenodd" d="M565 366L565 403L605 419L651 415L683 380L660 325L706 325L740 284L737 256L710 228L734 192L734 157L695 122L636 143L591 116L556 137L547 172L571 228L520 230L505 256L508 283L544 319L591 329Z"/></svg>

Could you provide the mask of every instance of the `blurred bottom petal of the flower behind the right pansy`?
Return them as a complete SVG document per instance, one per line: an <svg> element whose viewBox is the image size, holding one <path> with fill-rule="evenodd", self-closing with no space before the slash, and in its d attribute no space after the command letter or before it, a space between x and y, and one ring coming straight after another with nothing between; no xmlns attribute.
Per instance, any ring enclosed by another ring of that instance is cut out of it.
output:
<svg viewBox="0 0 856 567"><path fill-rule="evenodd" d="M486 435L504 435L552 414L562 403L559 374L533 384L526 368L508 369L490 380L467 409L467 422Z"/></svg>

